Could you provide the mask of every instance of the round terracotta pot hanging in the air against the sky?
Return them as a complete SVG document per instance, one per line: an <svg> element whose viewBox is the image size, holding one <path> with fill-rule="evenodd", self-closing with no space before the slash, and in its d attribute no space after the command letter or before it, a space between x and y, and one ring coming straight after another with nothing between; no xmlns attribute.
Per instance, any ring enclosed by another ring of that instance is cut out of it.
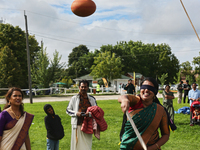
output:
<svg viewBox="0 0 200 150"><path fill-rule="evenodd" d="M71 5L71 10L79 17L87 17L95 12L96 5L92 0L75 0Z"/></svg>

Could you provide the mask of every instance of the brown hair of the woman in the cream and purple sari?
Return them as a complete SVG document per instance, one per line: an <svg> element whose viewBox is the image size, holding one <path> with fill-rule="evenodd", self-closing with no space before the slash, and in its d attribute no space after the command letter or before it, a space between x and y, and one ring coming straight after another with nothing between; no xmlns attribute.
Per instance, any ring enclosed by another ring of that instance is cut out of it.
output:
<svg viewBox="0 0 200 150"><path fill-rule="evenodd" d="M12 87L6 93L6 96L5 96L5 98L6 98L6 104L5 104L5 106L4 106L3 109L6 109L6 108L10 107L9 100L10 100L10 97L12 96L12 94L13 94L14 91L19 91L22 94L22 99L24 99L24 94L23 94L22 90L20 88L17 88L17 87ZM21 115L23 115L24 114L24 104L23 103L21 103L21 105L19 107L19 110L21 112Z"/></svg>

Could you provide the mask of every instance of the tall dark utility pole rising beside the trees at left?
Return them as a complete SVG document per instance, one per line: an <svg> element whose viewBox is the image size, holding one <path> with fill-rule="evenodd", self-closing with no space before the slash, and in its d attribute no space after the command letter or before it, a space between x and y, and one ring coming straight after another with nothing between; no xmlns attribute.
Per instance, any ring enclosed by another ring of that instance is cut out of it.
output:
<svg viewBox="0 0 200 150"><path fill-rule="evenodd" d="M29 84L29 98L30 103L33 103L32 100L32 81L31 81L31 64L30 64L30 50L29 50L29 41L28 41L28 25L27 25L27 16L24 10L25 17L25 26L26 26L26 51L27 51L27 65L28 65L28 84Z"/></svg>

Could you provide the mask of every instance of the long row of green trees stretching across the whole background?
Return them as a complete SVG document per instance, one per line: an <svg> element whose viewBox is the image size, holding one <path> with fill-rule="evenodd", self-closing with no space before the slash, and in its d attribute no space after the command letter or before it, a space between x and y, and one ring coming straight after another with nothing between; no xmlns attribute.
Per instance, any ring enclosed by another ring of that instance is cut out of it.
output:
<svg viewBox="0 0 200 150"><path fill-rule="evenodd" d="M90 74L94 78L104 77L108 81L127 72L138 72L156 79L168 73L166 82L177 82L181 74L194 80L199 73L200 56L194 57L195 71L190 62L179 64L169 45L142 43L141 41L120 41L116 45L102 45L90 51L85 45L78 45L68 56L68 65L62 63L59 51L55 50L51 60L47 47L29 35L31 76L33 87L49 87L54 82L65 82ZM25 32L18 26L0 24L0 88L28 87L27 53ZM197 78L198 79L198 78Z"/></svg>

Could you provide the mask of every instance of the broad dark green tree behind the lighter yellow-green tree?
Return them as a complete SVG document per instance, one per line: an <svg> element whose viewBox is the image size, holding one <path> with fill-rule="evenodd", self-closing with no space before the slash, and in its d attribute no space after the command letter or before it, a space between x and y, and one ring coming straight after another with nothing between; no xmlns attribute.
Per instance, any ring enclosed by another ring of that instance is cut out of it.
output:
<svg viewBox="0 0 200 150"><path fill-rule="evenodd" d="M139 72L144 76L157 78L168 73L167 82L173 82L179 71L179 61L167 44L144 44L141 41L118 42L117 45L103 45L100 52L115 53L121 58L122 71Z"/></svg>

